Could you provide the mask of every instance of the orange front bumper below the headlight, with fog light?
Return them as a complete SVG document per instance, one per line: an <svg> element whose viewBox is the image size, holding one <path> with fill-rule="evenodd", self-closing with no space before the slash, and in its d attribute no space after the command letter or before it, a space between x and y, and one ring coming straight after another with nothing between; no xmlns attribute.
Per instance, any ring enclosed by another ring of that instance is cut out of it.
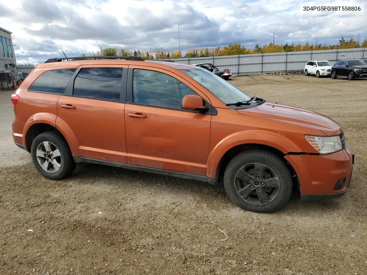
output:
<svg viewBox="0 0 367 275"><path fill-rule="evenodd" d="M301 187L302 201L335 198L348 192L352 179L354 153L345 148L328 155L286 155ZM334 190L337 182L344 184Z"/></svg>

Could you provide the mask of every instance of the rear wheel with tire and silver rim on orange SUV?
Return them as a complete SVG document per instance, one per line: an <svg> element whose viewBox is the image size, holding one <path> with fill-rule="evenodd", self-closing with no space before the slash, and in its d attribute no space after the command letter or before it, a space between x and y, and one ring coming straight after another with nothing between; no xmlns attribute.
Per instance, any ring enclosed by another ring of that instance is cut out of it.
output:
<svg viewBox="0 0 367 275"><path fill-rule="evenodd" d="M36 136L30 153L38 172L50 180L61 180L69 176L76 167L68 144L56 131Z"/></svg>

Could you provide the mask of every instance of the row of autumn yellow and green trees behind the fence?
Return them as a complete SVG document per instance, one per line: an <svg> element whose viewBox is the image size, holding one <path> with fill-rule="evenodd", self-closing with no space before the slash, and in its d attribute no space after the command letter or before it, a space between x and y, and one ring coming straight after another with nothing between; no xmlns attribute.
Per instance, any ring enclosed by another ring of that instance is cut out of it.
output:
<svg viewBox="0 0 367 275"><path fill-rule="evenodd" d="M350 35L347 37L341 37L339 39L339 44L336 45L326 45L321 43L309 43L308 41L304 44L274 44L274 52L297 52L297 51L317 51L322 49L350 49L350 48L365 48L367 47L367 38L365 38L362 42L359 41L359 37L355 38ZM127 49L116 49L116 48L103 48L102 54L103 56L140 56L145 60L153 60L153 59L175 59L175 58L195 58L195 57L209 57L209 56L226 56L226 55L239 55L239 54L261 54L261 53L270 53L273 52L273 43L265 44L260 46L256 44L254 49L247 49L242 46L240 43L229 43L227 46L223 48L192 48L188 49L184 55L181 54L180 51L164 51L164 50L156 50L153 52L149 51L140 51L134 50L130 51ZM89 56L99 56L100 52L91 52ZM83 54L83 56L86 56Z"/></svg>

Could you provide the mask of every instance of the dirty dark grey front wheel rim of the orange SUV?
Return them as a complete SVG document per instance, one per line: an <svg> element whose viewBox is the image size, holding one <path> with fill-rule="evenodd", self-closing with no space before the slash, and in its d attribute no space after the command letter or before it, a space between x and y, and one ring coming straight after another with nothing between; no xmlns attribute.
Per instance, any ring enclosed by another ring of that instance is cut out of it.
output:
<svg viewBox="0 0 367 275"><path fill-rule="evenodd" d="M269 166L250 163L242 166L235 176L237 194L246 202L264 205L273 201L279 193L280 181Z"/></svg>

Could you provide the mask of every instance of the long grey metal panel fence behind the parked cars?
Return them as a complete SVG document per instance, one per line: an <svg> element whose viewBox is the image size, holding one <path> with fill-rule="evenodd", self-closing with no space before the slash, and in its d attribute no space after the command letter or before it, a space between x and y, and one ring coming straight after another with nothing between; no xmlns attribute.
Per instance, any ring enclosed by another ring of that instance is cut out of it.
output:
<svg viewBox="0 0 367 275"><path fill-rule="evenodd" d="M367 48L275 52L270 54L211 56L170 60L191 65L210 62L218 67L219 70L229 69L234 75L244 75L303 72L305 64L310 60L329 60L334 64L337 60L346 58L367 58Z"/></svg>

